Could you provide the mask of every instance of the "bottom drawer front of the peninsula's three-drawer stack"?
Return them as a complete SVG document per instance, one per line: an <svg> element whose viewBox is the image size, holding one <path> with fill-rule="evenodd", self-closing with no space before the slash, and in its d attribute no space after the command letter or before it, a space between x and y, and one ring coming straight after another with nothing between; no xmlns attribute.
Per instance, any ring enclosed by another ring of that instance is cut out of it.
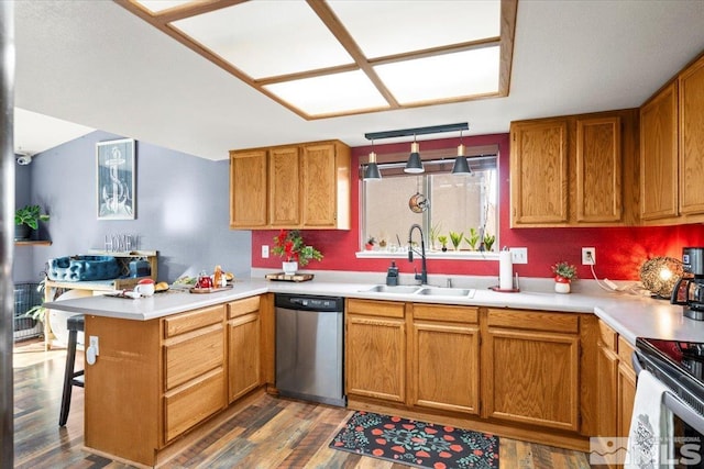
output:
<svg viewBox="0 0 704 469"><path fill-rule="evenodd" d="M169 442L224 407L224 369L218 368L164 395L164 432Z"/></svg>

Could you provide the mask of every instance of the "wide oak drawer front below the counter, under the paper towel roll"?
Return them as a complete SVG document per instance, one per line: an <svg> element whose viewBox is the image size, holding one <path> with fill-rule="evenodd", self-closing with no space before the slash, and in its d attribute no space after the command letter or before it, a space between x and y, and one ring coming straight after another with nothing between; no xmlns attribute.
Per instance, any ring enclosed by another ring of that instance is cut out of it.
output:
<svg viewBox="0 0 704 469"><path fill-rule="evenodd" d="M569 313L490 309L487 320L490 327L510 327L572 334L576 334L579 331L578 314Z"/></svg>

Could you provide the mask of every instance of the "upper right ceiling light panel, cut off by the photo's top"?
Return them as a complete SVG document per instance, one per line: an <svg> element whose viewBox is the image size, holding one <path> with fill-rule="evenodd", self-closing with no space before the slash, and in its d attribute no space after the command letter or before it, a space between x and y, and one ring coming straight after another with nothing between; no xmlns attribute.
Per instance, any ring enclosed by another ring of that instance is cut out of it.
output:
<svg viewBox="0 0 704 469"><path fill-rule="evenodd" d="M328 0L364 55L374 58L501 34L499 0ZM393 21L389 21L393 19Z"/></svg>

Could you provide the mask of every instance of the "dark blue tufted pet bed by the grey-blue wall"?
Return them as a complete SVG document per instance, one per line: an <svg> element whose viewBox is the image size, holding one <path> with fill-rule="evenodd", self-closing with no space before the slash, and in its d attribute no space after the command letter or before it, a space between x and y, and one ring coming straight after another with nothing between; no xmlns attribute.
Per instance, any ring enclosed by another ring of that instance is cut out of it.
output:
<svg viewBox="0 0 704 469"><path fill-rule="evenodd" d="M70 256L48 260L47 277L59 281L110 280L120 277L112 256Z"/></svg>

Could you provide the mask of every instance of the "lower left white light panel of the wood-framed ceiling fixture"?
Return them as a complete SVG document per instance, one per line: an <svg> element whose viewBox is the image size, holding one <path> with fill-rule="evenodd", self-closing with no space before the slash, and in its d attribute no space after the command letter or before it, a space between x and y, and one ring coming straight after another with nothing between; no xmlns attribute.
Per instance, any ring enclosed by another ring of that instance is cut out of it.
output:
<svg viewBox="0 0 704 469"><path fill-rule="evenodd" d="M273 83L264 88L310 116L388 109L384 97L359 70Z"/></svg>

